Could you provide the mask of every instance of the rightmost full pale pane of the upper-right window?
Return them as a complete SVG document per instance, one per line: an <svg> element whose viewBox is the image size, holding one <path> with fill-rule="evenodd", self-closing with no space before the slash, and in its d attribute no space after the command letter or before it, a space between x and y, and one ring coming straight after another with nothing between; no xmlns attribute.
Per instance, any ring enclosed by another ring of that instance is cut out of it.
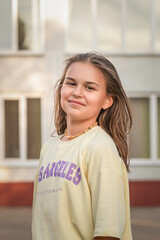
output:
<svg viewBox="0 0 160 240"><path fill-rule="evenodd" d="M128 0L126 48L129 51L150 50L150 0Z"/></svg>

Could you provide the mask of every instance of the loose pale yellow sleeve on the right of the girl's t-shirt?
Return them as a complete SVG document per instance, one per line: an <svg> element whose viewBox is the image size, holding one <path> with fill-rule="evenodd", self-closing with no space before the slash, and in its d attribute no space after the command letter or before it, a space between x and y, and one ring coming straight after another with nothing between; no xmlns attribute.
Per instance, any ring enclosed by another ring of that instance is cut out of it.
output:
<svg viewBox="0 0 160 240"><path fill-rule="evenodd" d="M123 239L127 206L125 165L109 147L90 152L88 183L91 189L94 235ZM130 240L129 238L127 240Z"/></svg>

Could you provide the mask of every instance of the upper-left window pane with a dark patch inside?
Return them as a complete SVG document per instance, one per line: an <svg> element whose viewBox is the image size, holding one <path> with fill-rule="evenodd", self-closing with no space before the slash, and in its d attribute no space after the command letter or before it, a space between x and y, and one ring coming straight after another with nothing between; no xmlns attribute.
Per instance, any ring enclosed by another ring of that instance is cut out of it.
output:
<svg viewBox="0 0 160 240"><path fill-rule="evenodd" d="M40 49L40 12L38 0L18 0L18 48Z"/></svg>

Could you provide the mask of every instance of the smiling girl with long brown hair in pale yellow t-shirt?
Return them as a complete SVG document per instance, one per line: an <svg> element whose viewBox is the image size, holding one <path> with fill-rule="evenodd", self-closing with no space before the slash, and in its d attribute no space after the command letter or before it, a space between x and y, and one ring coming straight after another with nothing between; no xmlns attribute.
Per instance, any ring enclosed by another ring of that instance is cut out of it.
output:
<svg viewBox="0 0 160 240"><path fill-rule="evenodd" d="M65 61L55 127L34 186L33 240L131 240L127 171L130 104L97 53Z"/></svg>

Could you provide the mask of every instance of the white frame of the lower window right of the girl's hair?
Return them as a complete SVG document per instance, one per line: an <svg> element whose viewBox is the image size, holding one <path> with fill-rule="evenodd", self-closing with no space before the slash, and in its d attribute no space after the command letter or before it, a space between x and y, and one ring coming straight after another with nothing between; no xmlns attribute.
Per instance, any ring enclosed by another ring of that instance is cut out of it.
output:
<svg viewBox="0 0 160 240"><path fill-rule="evenodd" d="M128 93L129 98L149 99L150 158L131 158L132 166L160 166L158 158L158 93Z"/></svg>

